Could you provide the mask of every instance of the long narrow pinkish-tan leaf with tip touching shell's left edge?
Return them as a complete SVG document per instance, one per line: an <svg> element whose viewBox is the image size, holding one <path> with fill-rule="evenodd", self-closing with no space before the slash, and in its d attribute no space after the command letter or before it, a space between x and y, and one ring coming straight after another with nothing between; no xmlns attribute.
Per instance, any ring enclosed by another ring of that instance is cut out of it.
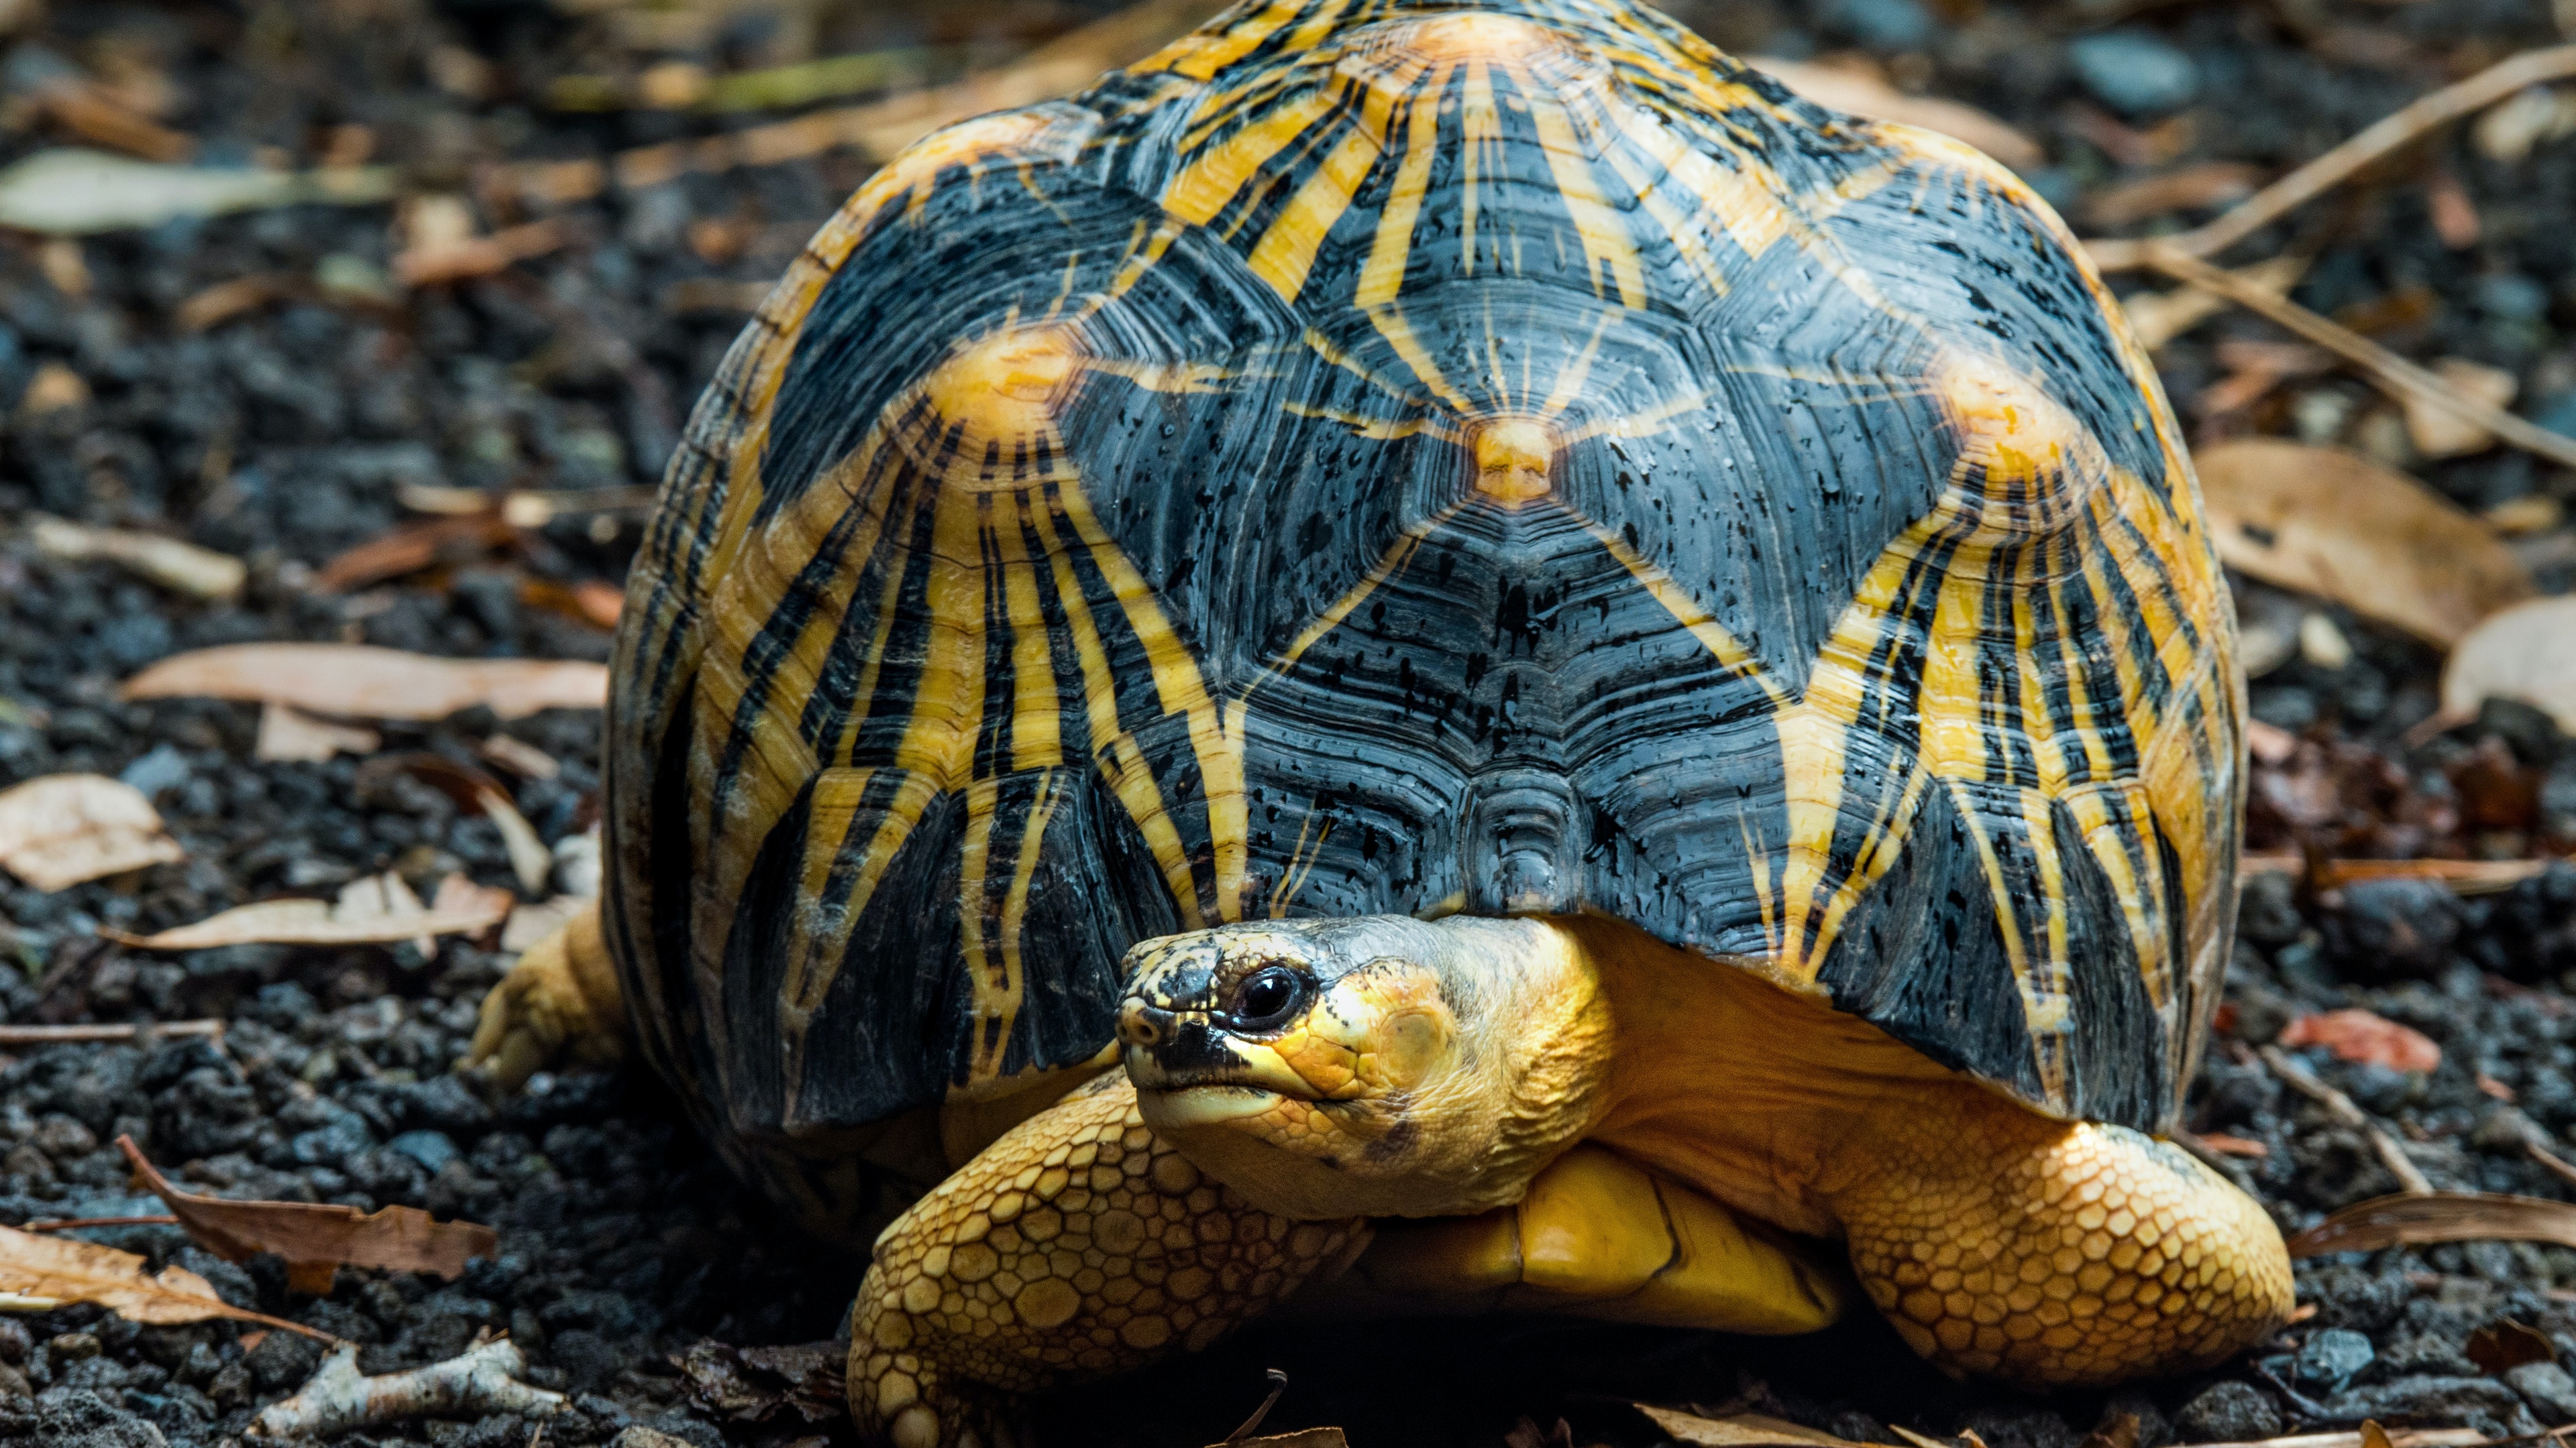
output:
<svg viewBox="0 0 2576 1448"><path fill-rule="evenodd" d="M353 719L446 719L484 703L502 719L600 709L608 665L582 660L440 660L368 644L227 644L167 657L121 698L258 698Z"/></svg>

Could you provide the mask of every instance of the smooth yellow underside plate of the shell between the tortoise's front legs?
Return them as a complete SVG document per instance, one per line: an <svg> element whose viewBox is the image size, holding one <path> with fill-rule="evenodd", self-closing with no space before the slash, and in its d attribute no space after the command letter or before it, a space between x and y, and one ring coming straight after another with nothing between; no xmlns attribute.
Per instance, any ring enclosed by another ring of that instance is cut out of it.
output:
<svg viewBox="0 0 2576 1448"><path fill-rule="evenodd" d="M1788 1335L1844 1306L1842 1273L1788 1237L1589 1141L1538 1172L1517 1206L1376 1232L1347 1273L1298 1293L1298 1317L1564 1311Z"/></svg>

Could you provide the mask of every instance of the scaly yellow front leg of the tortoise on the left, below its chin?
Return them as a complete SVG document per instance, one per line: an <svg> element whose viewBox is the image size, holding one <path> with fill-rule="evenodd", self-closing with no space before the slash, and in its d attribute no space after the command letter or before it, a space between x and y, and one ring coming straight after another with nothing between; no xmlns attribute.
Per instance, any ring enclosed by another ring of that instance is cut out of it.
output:
<svg viewBox="0 0 2576 1448"><path fill-rule="evenodd" d="M1023 1443L1015 1394L1200 1350L1368 1237L1291 1221L1164 1147L1110 1072L899 1216L850 1309L850 1417L894 1448Z"/></svg>

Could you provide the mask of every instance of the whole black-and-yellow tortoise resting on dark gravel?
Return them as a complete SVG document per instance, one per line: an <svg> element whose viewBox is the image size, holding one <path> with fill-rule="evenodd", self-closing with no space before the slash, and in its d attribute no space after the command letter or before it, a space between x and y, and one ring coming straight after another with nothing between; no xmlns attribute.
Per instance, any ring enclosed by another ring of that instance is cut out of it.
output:
<svg viewBox="0 0 2576 1448"><path fill-rule="evenodd" d="M2287 1314L2159 1139L2244 680L2154 368L2009 170L1641 5L1244 0L904 149L613 678L603 904L477 1059L631 1031L873 1239L881 1440L1288 1293L1868 1299L2025 1386Z"/></svg>

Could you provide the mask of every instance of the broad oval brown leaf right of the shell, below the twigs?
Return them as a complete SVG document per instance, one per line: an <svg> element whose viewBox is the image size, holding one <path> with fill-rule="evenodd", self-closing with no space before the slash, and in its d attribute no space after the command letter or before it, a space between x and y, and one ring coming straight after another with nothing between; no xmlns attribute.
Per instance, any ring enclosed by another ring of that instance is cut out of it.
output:
<svg viewBox="0 0 2576 1448"><path fill-rule="evenodd" d="M2532 595L2494 528L2360 453L2244 438L2195 464L2218 557L2264 582L2442 647Z"/></svg>

